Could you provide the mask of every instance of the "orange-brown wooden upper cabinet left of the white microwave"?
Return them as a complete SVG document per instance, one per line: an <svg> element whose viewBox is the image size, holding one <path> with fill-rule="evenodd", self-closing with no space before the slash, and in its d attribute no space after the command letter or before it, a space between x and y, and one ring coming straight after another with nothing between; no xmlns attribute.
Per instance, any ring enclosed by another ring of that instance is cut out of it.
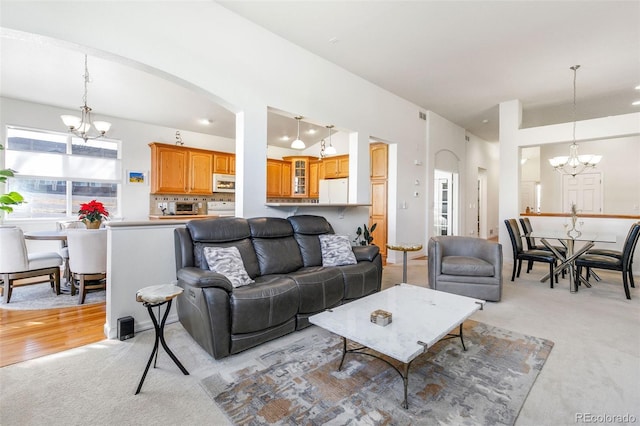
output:
<svg viewBox="0 0 640 426"><path fill-rule="evenodd" d="M157 142L149 146L152 194L212 193L212 151Z"/></svg>

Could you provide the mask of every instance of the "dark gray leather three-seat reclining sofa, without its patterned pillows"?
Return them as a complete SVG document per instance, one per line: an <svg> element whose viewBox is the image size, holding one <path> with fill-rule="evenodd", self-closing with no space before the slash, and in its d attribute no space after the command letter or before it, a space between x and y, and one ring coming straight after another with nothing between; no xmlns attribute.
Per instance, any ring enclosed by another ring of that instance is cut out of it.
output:
<svg viewBox="0 0 640 426"><path fill-rule="evenodd" d="M357 263L323 267L319 235L333 234L320 216L193 220L175 230L178 317L220 359L300 330L308 318L380 290L377 246L354 246ZM234 246L254 283L233 287L209 270L205 247Z"/></svg>

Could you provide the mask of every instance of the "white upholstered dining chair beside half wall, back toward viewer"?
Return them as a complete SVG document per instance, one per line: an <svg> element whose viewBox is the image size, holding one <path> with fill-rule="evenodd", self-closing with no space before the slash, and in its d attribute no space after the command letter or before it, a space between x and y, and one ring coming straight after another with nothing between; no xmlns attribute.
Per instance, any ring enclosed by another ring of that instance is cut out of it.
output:
<svg viewBox="0 0 640 426"><path fill-rule="evenodd" d="M69 229L67 246L71 269L71 295L75 295L77 283L80 293L78 304L81 305L89 290L106 288L107 231L105 229Z"/></svg>

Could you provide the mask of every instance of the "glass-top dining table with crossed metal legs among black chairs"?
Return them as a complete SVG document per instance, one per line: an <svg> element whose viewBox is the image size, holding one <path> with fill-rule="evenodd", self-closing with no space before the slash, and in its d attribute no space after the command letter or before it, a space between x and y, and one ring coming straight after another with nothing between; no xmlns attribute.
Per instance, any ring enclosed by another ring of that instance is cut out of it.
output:
<svg viewBox="0 0 640 426"><path fill-rule="evenodd" d="M569 269L569 291L575 293L578 291L578 285L584 284L591 287L591 284L581 276L576 275L575 260L593 248L596 243L615 243L616 236L607 232L582 232L572 229L570 231L560 231L555 229L536 230L526 236L540 239L540 242L549 249L558 258L560 263L553 269L553 275L557 275L564 269ZM551 245L549 240L558 240L567 249L566 253L559 252ZM576 249L576 242L584 243ZM592 272L593 273L593 272ZM547 273L540 281L545 282L551 277L551 273Z"/></svg>

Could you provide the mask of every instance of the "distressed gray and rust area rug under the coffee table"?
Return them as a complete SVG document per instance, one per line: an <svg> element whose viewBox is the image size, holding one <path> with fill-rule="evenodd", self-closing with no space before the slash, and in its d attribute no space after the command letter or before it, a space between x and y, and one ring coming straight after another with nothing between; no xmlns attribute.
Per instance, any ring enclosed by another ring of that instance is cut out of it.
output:
<svg viewBox="0 0 640 426"><path fill-rule="evenodd" d="M238 425L512 425L553 342L468 320L467 351L442 340L411 364L409 408L402 379L384 362L348 354L341 338L319 330L260 357L227 383L215 374L202 386Z"/></svg>

